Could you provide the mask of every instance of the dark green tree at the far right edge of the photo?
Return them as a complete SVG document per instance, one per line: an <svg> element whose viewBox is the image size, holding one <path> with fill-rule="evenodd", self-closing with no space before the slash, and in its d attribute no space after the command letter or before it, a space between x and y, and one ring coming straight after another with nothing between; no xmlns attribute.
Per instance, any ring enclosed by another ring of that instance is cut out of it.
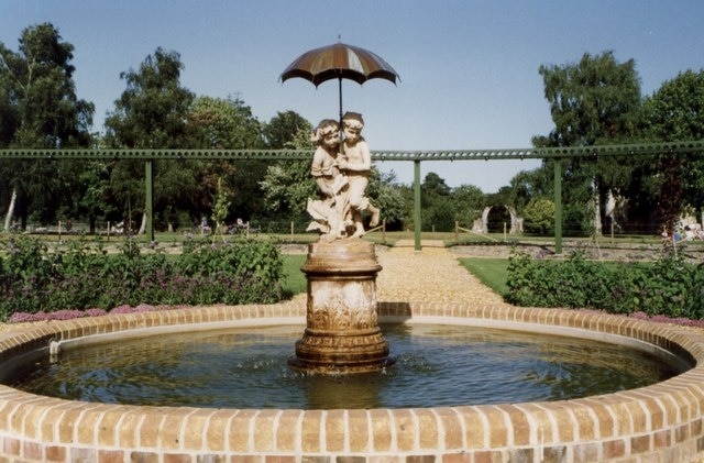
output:
<svg viewBox="0 0 704 463"><path fill-rule="evenodd" d="M704 139L704 70L680 73L644 101L642 132L648 141ZM704 203L702 156L662 154L642 166L658 205L659 219L672 230L685 206Z"/></svg>

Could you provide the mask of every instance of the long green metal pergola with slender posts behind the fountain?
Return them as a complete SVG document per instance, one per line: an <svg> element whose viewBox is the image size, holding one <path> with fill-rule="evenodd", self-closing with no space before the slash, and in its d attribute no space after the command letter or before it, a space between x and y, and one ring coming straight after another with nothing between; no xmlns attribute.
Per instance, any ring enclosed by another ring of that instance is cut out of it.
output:
<svg viewBox="0 0 704 463"><path fill-rule="evenodd" d="M414 163L415 249L420 251L420 163L428 161L554 159L554 247L562 253L562 161L572 157L648 156L659 154L694 155L704 153L704 140L669 143L641 143L602 146L507 150L374 151L373 161ZM230 159L300 161L309 159L308 150L0 150L0 159L143 159L146 198L146 239L154 240L154 161Z"/></svg>

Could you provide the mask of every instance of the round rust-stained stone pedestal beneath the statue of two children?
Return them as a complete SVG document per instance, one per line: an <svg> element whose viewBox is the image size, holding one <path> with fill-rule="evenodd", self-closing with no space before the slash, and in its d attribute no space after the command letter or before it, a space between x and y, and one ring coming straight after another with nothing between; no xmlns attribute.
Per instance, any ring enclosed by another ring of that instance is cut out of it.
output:
<svg viewBox="0 0 704 463"><path fill-rule="evenodd" d="M359 239L318 242L301 267L308 279L306 330L289 364L322 374L373 372L392 363L376 312L374 245Z"/></svg>

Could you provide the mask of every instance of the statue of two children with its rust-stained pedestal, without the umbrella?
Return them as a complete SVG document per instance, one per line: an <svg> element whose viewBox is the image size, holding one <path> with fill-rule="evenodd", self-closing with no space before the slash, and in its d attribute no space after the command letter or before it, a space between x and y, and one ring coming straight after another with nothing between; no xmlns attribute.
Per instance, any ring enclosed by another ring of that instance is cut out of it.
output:
<svg viewBox="0 0 704 463"><path fill-rule="evenodd" d="M306 331L296 343L289 364L309 373L352 374L382 370L393 363L378 327L376 274L382 269L374 245L364 234L362 211L378 209L365 197L371 155L360 137L361 114L342 118L345 141L340 143L338 122L326 119L314 131L318 144L311 174L320 199L308 201L318 230L301 268L308 280Z"/></svg>

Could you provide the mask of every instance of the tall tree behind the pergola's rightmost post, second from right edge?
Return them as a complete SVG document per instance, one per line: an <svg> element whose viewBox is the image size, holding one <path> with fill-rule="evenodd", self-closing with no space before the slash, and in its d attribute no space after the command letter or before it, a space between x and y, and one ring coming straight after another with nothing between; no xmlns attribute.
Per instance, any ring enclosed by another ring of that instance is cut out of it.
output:
<svg viewBox="0 0 704 463"><path fill-rule="evenodd" d="M535 136L535 146L588 146L630 140L638 129L640 81L632 59L618 63L613 52L579 63L540 66L546 99L554 129L548 136ZM552 168L546 162L544 168ZM608 190L625 189L631 179L629 159L575 157L563 172L565 203L595 205L594 223L601 233L602 198Z"/></svg>

